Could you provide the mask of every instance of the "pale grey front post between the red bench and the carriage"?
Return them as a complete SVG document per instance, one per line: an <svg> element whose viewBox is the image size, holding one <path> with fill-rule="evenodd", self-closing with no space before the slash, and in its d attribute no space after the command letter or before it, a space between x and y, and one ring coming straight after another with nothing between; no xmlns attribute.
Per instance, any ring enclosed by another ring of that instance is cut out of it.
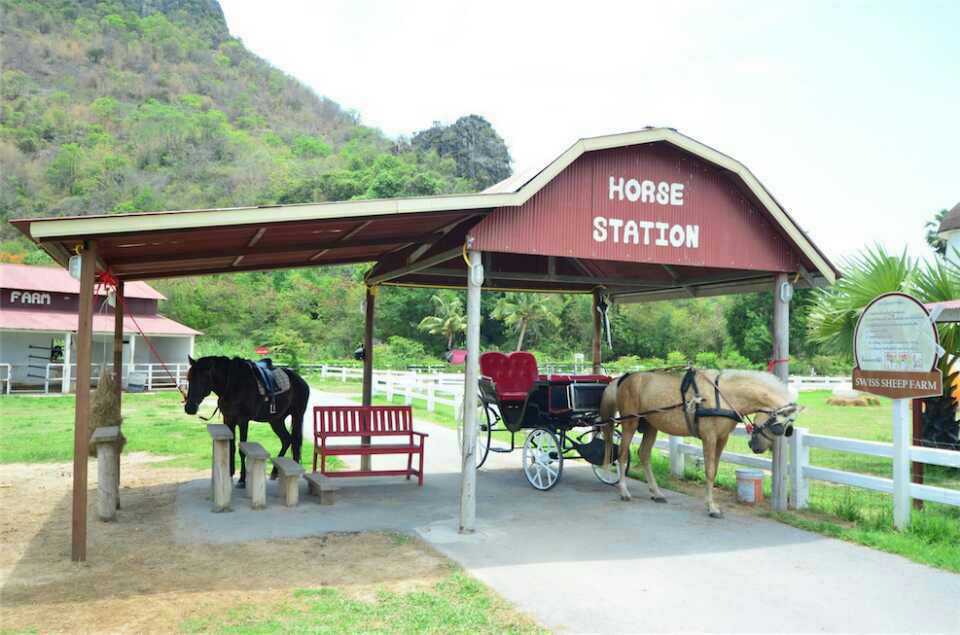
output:
<svg viewBox="0 0 960 635"><path fill-rule="evenodd" d="M477 398L480 391L480 252L470 251L467 273L467 359L463 380L463 447L460 455L460 533L473 533L477 516Z"/></svg>

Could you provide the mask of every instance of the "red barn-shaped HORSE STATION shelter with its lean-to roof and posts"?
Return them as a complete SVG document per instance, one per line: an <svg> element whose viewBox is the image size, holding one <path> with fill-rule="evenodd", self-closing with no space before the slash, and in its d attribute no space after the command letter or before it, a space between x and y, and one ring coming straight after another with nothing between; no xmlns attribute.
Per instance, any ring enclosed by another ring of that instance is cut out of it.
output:
<svg viewBox="0 0 960 635"><path fill-rule="evenodd" d="M122 289L127 281L170 276L373 263L366 277L366 404L376 288L466 287L461 531L473 530L476 509L481 289L591 293L595 303L775 291L771 359L786 379L791 283L821 286L838 275L745 166L671 128L581 139L533 176L477 194L13 223L64 266L81 254L78 375L89 368L100 272ZM595 371L600 327L595 312ZM85 557L88 399L77 394L75 559ZM786 504L785 454L775 446L775 506Z"/></svg>

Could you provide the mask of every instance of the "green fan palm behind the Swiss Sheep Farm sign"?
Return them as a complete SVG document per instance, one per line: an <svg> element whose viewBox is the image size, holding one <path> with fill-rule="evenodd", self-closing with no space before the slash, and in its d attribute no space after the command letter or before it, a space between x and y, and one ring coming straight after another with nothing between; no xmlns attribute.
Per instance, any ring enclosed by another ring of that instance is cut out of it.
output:
<svg viewBox="0 0 960 635"><path fill-rule="evenodd" d="M808 322L811 339L852 360L857 319L870 301L892 291L909 293L925 303L960 298L958 262L960 258L939 257L918 261L906 252L893 256L880 246L865 249L844 263L843 277L833 287L817 292ZM960 362L960 325L940 324L938 332L946 351L939 363L944 390L942 396L925 400L924 439L958 445L953 386Z"/></svg>

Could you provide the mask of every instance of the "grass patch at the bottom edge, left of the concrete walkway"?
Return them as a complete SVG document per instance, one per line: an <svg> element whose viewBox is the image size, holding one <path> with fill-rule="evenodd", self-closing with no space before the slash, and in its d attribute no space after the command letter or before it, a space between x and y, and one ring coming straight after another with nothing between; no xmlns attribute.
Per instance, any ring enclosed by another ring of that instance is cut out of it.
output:
<svg viewBox="0 0 960 635"><path fill-rule="evenodd" d="M186 633L540 633L545 632L460 572L426 591L380 591L351 599L336 588L298 589L274 606L249 604L195 618Z"/></svg>

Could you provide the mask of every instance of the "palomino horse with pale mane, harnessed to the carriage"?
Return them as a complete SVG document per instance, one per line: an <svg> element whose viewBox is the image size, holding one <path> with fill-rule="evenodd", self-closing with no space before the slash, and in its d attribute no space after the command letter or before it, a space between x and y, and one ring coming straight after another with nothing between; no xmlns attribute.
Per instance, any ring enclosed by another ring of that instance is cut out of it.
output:
<svg viewBox="0 0 960 635"><path fill-rule="evenodd" d="M776 436L793 434L793 421L800 407L787 386L770 373L688 369L685 375L639 372L614 380L603 393L600 416L610 420L617 411L623 423L620 498L630 500L623 466L627 465L633 434L643 420L646 425L641 431L639 458L653 500L666 502L650 469L650 453L657 432L697 436L703 441L707 511L714 518L722 518L723 513L713 500L713 482L720 455L737 422L754 413L767 415L763 423L747 425L751 433L750 449L760 454L773 445Z"/></svg>

